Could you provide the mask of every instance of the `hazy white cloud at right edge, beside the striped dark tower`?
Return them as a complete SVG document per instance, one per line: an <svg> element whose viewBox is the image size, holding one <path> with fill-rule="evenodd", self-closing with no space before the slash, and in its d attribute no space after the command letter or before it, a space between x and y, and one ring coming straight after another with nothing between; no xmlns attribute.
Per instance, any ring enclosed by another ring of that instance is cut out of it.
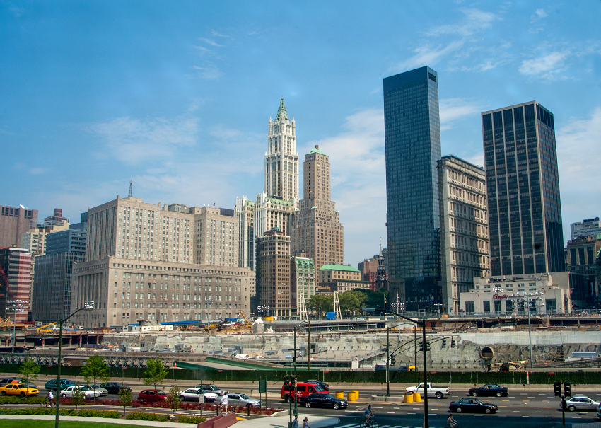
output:
<svg viewBox="0 0 601 428"><path fill-rule="evenodd" d="M601 213L601 106L585 118L573 118L556 130L557 163L564 240L570 223Z"/></svg>

